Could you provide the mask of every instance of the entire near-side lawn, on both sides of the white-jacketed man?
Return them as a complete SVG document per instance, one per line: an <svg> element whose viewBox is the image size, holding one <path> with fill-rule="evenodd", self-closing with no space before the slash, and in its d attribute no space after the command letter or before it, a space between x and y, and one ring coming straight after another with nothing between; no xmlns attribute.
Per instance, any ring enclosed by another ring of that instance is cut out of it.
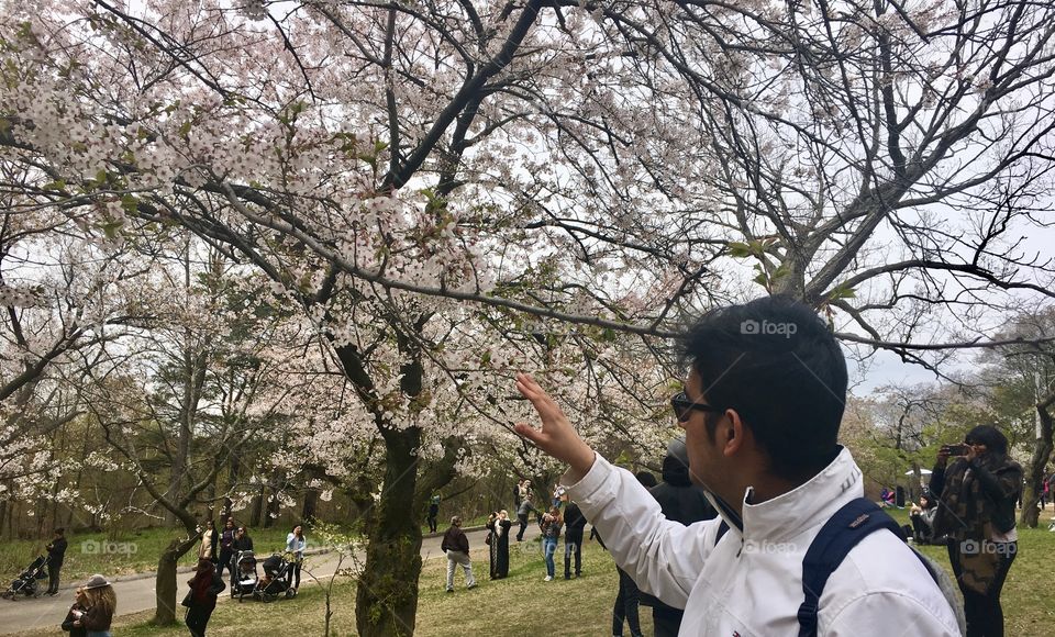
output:
<svg viewBox="0 0 1055 637"><path fill-rule="evenodd" d="M908 513L903 511L895 511L893 515L906 522L908 519ZM1055 554L1055 533L1046 530L1046 515L1043 522L1042 528L1019 530L1019 557L1011 568L1002 595L1009 635L1042 637L1053 634L1055 585L1051 577L1050 557ZM479 586L473 591L465 590L459 570L455 575L456 592L445 593L446 560L426 561L421 577L415 635L453 637L537 633L585 637L610 634L615 568L608 552L597 543L586 543L584 575L570 581L563 578L553 582L542 581L545 566L537 543L514 543L510 548L510 577L497 582L487 579L486 550L474 551L474 571ZM921 548L948 568L943 547ZM558 573L563 570L560 558L563 546L558 551ZM351 581L344 580L335 586L331 635L355 635L354 599L355 590ZM322 635L323 607L324 595L319 586L301 586L301 594L297 599L271 604L225 601L216 607L209 624L209 635ZM149 616L149 613L144 613L121 617L114 627L114 635L186 635L182 626L147 626L145 622ZM645 635L651 635L649 608L642 607L641 623ZM27 637L53 634L55 630L42 630Z"/></svg>

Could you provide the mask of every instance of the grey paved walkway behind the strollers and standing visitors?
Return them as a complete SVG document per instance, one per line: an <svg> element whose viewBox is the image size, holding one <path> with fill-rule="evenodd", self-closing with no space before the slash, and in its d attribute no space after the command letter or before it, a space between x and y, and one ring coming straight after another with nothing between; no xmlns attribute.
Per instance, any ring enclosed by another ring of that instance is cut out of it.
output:
<svg viewBox="0 0 1055 637"><path fill-rule="evenodd" d="M515 532L517 528L514 524L513 530ZM474 550L485 546L484 537L486 532L482 528L470 529L466 535L469 538L469 546L473 547ZM528 525L528 533L524 534L524 537L534 538L536 535L538 535L537 525ZM421 544L422 559L444 557L443 551L440 550L441 539L442 536L424 538ZM333 554L321 554L311 557L311 572L321 579L333 574L337 559ZM345 567L347 565L345 565ZM184 582L186 579L184 573L188 572L190 572L189 568L180 569L180 575L177 580L178 584ZM486 563L484 565L484 572L486 575ZM226 573L224 573L224 578L226 578ZM302 573L301 583L310 582L311 578L307 573ZM63 623L67 611L69 611L69 606L74 603L74 590L80 583L81 582L64 583L59 589L59 594L54 597L44 596L35 600L32 597L23 597L15 602L0 600L0 635L14 635L23 630L47 628L48 626L54 626L56 634L58 634L58 626ZM43 584L46 588L47 581L44 580ZM136 575L118 578L113 582L113 589L118 595L118 613L120 615L140 613L154 608L154 573L138 573ZM180 588L180 590L182 590L182 588ZM224 591L220 595L221 601L230 599L227 591Z"/></svg>

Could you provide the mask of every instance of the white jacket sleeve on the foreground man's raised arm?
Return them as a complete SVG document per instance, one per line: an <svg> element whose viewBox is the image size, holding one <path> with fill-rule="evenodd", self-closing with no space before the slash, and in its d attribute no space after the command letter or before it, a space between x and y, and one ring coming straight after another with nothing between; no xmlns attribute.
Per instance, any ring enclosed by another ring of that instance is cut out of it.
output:
<svg viewBox="0 0 1055 637"><path fill-rule="evenodd" d="M721 521L691 526L668 521L630 471L612 467L600 454L569 491L603 535L615 563L637 586L665 604L684 608L718 540Z"/></svg>

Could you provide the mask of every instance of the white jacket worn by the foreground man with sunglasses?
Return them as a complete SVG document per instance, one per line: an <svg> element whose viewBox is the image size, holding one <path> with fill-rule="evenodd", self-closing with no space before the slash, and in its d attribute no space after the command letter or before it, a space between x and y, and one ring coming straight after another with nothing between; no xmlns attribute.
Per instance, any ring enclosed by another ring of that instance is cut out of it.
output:
<svg viewBox="0 0 1055 637"><path fill-rule="evenodd" d="M600 455L569 487L615 562L642 591L686 610L681 636L798 635L802 558L824 522L864 494L849 451L798 489L760 504L744 494L743 532L715 546L722 518L669 522L636 479ZM721 510L721 507L719 507ZM724 512L723 512L724 515ZM911 549L878 530L846 556L824 586L818 635L960 635L941 590Z"/></svg>

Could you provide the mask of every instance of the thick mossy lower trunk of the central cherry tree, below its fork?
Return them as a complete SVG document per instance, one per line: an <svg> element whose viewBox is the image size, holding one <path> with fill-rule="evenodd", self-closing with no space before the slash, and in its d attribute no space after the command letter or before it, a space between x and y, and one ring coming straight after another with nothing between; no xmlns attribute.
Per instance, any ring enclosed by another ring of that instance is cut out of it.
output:
<svg viewBox="0 0 1055 637"><path fill-rule="evenodd" d="M355 619L362 637L409 637L418 613L421 524L415 507L421 429L384 431L385 484L370 525L366 565L356 591Z"/></svg>

